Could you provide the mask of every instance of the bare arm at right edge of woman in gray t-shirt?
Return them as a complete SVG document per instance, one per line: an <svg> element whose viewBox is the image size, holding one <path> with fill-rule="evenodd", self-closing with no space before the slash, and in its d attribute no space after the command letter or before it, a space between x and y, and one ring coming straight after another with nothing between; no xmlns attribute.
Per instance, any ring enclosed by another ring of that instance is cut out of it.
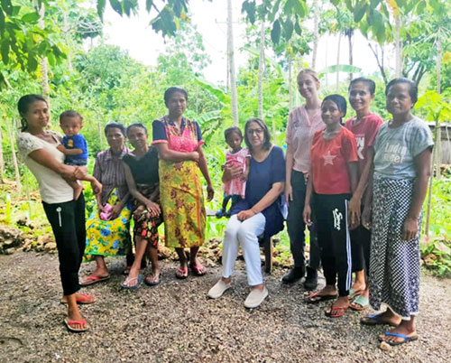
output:
<svg viewBox="0 0 451 363"><path fill-rule="evenodd" d="M432 149L428 147L425 151L415 156L415 171L417 177L413 184L412 201L409 213L402 226L401 238L409 241L417 236L419 229L419 213L428 191L428 179L430 177L430 159Z"/></svg>

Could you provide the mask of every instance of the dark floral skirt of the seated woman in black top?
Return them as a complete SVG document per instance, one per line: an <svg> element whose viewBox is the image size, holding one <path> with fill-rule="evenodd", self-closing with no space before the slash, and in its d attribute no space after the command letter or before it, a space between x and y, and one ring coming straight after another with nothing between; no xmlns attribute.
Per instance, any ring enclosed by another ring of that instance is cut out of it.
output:
<svg viewBox="0 0 451 363"><path fill-rule="evenodd" d="M138 191L143 194L144 197L150 198L152 193L156 188L159 187L159 184L148 185L148 184L137 184L136 188ZM155 203L161 205L160 200L154 200ZM135 200L135 207L139 208L140 203ZM147 239L147 243L150 243L153 247L158 248L158 226L163 222L162 213L158 217L152 217L151 213L147 209L143 209L143 211L139 213L133 213L133 240L136 242L136 237L142 237L143 239Z"/></svg>

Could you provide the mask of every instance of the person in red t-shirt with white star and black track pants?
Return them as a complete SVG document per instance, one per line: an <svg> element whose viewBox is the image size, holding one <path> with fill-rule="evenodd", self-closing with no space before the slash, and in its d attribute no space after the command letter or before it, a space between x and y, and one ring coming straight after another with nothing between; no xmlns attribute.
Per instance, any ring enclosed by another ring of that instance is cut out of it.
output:
<svg viewBox="0 0 451 363"><path fill-rule="evenodd" d="M351 240L347 226L347 203L357 186L358 155L354 134L343 125L346 100L330 95L321 104L326 128L313 137L310 151L311 178L308 178L304 221L311 224L310 198L317 217L318 244L326 286L306 298L307 302L333 300L327 316L343 316L349 307L352 283Z"/></svg>

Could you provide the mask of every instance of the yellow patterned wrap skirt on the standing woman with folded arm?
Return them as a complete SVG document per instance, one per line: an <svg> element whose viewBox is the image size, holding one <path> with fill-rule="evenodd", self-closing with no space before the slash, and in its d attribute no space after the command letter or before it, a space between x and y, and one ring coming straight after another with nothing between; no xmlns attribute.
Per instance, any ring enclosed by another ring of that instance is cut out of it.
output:
<svg viewBox="0 0 451 363"><path fill-rule="evenodd" d="M206 211L198 163L160 160L159 172L166 247L201 246Z"/></svg>

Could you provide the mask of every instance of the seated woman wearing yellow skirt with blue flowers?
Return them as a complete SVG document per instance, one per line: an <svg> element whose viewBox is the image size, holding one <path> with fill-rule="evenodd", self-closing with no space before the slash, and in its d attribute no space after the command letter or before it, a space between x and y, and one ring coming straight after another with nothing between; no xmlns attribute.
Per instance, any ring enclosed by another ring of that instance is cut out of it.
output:
<svg viewBox="0 0 451 363"><path fill-rule="evenodd" d="M128 256L132 252L132 204L122 163L124 155L130 152L124 145L125 128L117 122L110 122L105 126L105 135L110 148L97 154L93 172L103 190L96 196L97 210L87 219L85 249L85 259L95 259L97 267L81 283L85 286L109 279L105 256Z"/></svg>

